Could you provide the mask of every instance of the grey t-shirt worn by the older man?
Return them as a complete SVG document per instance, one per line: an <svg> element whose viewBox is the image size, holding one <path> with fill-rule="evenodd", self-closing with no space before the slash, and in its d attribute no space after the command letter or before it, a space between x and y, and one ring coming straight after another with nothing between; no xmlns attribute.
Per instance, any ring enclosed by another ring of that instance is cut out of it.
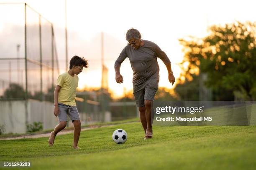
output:
<svg viewBox="0 0 256 170"><path fill-rule="evenodd" d="M163 52L154 42L143 40L144 45L138 49L134 49L131 45L124 47L118 59L115 61L115 66L121 65L126 57L129 58L133 69L133 92L140 90L144 82L149 79L159 80L159 65L157 57L159 57L165 65L170 65L171 62L165 52Z"/></svg>

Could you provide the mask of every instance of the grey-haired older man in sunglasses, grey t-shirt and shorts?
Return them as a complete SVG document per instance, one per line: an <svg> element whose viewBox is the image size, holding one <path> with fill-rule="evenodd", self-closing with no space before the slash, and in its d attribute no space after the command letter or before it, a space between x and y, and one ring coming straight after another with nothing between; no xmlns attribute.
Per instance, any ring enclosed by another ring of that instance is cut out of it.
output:
<svg viewBox="0 0 256 170"><path fill-rule="evenodd" d="M124 47L118 59L115 61L115 80L123 83L120 74L120 66L126 57L131 62L133 69L133 95L140 111L141 124L145 131L145 139L153 137L152 123L154 117L153 101L159 82L159 57L167 67L169 82L172 85L175 78L172 72L171 62L167 55L154 42L141 40L141 33L131 28L126 33L128 45ZM153 113L153 116L151 116Z"/></svg>

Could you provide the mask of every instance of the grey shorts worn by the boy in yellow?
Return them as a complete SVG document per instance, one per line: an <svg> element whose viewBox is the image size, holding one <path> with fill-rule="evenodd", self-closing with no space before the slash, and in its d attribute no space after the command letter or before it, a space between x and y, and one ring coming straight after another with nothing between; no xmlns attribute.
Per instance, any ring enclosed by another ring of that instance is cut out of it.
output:
<svg viewBox="0 0 256 170"><path fill-rule="evenodd" d="M67 121L67 115L69 115L69 118L72 120L80 120L79 113L77 111L76 106L69 106L65 105L63 103L58 103L59 106L59 122L61 121Z"/></svg>

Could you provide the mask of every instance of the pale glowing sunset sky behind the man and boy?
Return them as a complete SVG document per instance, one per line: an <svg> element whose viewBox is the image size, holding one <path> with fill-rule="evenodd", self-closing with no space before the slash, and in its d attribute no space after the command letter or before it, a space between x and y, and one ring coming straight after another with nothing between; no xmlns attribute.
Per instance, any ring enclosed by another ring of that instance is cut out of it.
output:
<svg viewBox="0 0 256 170"><path fill-rule="evenodd" d="M26 2L54 25L61 73L65 72L65 0L0 0ZM155 42L172 62L176 78L184 54L179 39L205 37L210 25L256 21L253 0L67 0L68 57L85 57L90 67L79 74L79 88L100 87L101 37L104 32L104 64L108 67L108 84L115 97L132 90L133 71L128 58L121 65L123 84L115 82L114 62L127 44L125 33L130 28L141 32L142 39ZM3 14L2 14L3 15ZM17 18L18 9L8 18ZM3 19L3 18L2 18ZM18 21L17 21L18 22ZM21 23L22 24L22 23ZM0 25L0 31L5 25ZM165 65L160 67L160 87L173 88ZM175 85L175 84L174 84Z"/></svg>

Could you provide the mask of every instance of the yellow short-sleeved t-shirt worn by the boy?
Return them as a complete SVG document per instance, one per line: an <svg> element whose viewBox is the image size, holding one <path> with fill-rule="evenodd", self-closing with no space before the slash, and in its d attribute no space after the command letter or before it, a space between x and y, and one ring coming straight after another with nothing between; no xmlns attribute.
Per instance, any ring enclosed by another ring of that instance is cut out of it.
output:
<svg viewBox="0 0 256 170"><path fill-rule="evenodd" d="M65 105L76 106L76 95L77 95L77 86L78 86L78 76L69 75L68 72L65 72L59 75L57 79L57 85L61 86L59 90L58 102Z"/></svg>

